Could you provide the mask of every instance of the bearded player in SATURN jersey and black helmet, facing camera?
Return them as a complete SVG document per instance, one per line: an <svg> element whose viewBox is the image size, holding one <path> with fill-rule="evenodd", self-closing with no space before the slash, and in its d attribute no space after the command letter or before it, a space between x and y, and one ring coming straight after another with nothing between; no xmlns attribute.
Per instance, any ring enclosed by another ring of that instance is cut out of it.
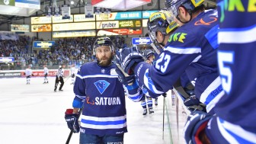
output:
<svg viewBox="0 0 256 144"><path fill-rule="evenodd" d="M80 67L75 78L72 113L66 112L69 129L78 133L80 143L123 143L126 105L122 83L112 63L114 44L109 37L94 42L97 62ZM82 102L85 101L85 102ZM83 107L79 129L78 110Z"/></svg>

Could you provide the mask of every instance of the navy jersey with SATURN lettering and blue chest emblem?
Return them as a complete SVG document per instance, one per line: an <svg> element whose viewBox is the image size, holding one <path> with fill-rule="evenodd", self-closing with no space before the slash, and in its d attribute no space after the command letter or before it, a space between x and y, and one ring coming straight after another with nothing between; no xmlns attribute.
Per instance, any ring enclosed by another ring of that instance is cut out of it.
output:
<svg viewBox="0 0 256 144"><path fill-rule="evenodd" d="M74 93L73 107L77 101L85 101L81 133L103 136L127 132L124 89L114 65L85 63L78 70Z"/></svg>

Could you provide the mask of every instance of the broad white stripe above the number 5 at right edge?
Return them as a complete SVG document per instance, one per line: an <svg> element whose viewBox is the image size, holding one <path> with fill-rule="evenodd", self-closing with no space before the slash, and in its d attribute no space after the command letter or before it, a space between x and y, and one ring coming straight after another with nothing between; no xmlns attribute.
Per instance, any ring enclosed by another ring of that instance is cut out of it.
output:
<svg viewBox="0 0 256 144"><path fill-rule="evenodd" d="M256 25L233 30L222 29L218 33L218 43L251 43L256 41Z"/></svg>

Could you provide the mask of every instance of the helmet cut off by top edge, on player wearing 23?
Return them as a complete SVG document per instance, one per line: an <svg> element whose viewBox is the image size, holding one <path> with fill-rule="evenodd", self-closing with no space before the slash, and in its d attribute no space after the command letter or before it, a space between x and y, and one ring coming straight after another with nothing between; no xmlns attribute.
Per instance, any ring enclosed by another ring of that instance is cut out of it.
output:
<svg viewBox="0 0 256 144"><path fill-rule="evenodd" d="M178 18L178 8L183 6L191 14L191 12L203 5L204 0L165 0L165 8Z"/></svg>

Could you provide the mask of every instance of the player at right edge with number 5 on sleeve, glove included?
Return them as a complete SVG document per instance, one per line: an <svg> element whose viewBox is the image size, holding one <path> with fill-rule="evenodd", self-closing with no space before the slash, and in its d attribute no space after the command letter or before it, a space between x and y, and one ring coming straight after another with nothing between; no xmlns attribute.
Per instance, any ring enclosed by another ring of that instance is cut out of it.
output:
<svg viewBox="0 0 256 144"><path fill-rule="evenodd" d="M256 143L255 2L219 1L218 4L217 54L225 95L214 108L215 116L190 114L185 139L187 143Z"/></svg>

